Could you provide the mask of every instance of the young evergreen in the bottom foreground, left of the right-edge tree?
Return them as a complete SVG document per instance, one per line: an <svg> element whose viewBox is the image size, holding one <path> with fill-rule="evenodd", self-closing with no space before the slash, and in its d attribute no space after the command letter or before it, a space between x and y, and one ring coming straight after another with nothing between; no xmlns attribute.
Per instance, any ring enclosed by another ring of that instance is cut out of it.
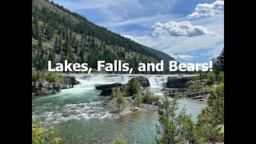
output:
<svg viewBox="0 0 256 144"><path fill-rule="evenodd" d="M158 121L157 125L157 143L175 144L186 142L188 134L191 134L188 126L191 122L190 116L186 114L186 110L182 109L178 114L178 98L170 101L165 97L164 101L158 106ZM194 139L194 136L193 136Z"/></svg>

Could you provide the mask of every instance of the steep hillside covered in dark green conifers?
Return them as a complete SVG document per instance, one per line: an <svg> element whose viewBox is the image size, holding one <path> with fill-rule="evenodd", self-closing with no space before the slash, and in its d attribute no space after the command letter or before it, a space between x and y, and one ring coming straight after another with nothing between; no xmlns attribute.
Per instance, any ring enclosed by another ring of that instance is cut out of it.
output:
<svg viewBox="0 0 256 144"><path fill-rule="evenodd" d="M97 61L114 60L128 62L138 74L139 62L157 63L164 60L168 73L168 54L142 46L137 42L115 34L105 27L89 22L83 16L67 10L54 2L33 0L32 6L32 67L46 70L47 62L88 63L97 69ZM170 72L169 72L170 73ZM146 73L144 73L146 74ZM161 74L151 72L150 74Z"/></svg>

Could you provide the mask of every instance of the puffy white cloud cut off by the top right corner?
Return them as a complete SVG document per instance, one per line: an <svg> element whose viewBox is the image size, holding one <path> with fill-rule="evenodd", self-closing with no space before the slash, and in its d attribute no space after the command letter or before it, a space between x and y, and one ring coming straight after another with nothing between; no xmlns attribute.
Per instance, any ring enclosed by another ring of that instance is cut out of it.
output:
<svg viewBox="0 0 256 144"><path fill-rule="evenodd" d="M224 0L217 0L213 3L199 3L194 12L189 14L189 18L200 18L206 16L215 16L224 13Z"/></svg>

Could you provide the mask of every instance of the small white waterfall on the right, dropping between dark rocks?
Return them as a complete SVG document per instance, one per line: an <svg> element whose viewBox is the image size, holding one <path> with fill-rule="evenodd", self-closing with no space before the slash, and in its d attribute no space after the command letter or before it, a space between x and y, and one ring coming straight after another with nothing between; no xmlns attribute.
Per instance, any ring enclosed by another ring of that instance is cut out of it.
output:
<svg viewBox="0 0 256 144"><path fill-rule="evenodd" d="M162 86L166 86L166 83L167 83L167 77L150 75L150 76L147 76L146 78L149 79L151 87L162 87Z"/></svg>

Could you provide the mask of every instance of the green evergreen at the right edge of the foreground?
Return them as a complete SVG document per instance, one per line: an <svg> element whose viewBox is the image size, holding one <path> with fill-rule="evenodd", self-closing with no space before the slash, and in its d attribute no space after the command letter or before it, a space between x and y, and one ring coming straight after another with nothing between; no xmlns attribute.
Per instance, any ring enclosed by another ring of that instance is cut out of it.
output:
<svg viewBox="0 0 256 144"><path fill-rule="evenodd" d="M198 115L198 136L202 142L224 140L224 83L210 90L207 106Z"/></svg>

